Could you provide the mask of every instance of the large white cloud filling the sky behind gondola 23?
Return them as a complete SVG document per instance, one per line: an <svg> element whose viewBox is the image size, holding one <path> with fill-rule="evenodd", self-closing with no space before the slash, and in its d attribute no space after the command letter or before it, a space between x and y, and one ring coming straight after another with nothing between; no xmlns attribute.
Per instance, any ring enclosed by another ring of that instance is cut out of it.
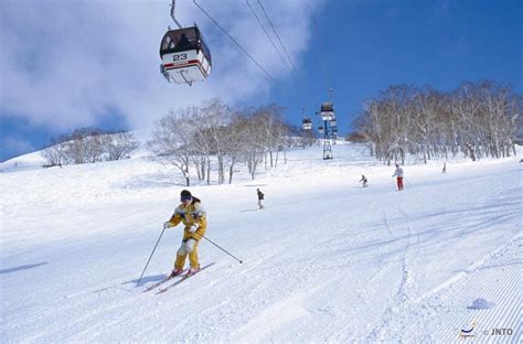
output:
<svg viewBox="0 0 523 344"><path fill-rule="evenodd" d="M277 80L291 78L245 1L198 1ZM257 0L249 0L259 11ZM322 1L263 1L297 67L311 13ZM56 130L96 125L109 109L132 128L150 126L169 108L209 97L232 104L264 98L270 80L192 1L177 2L184 25L196 21L213 54L213 72L193 87L159 73L159 44L170 1L10 1L0 7L0 116ZM276 37L275 37L276 40ZM3 115L2 115L3 114Z"/></svg>

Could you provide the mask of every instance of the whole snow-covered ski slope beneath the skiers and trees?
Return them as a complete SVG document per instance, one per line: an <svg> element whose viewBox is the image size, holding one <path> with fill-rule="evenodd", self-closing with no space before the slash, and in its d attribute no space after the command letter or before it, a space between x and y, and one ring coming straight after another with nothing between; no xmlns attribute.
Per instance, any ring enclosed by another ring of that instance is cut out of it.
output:
<svg viewBox="0 0 523 344"><path fill-rule="evenodd" d="M142 291L172 269L181 226L137 279L185 189L177 173L146 158L4 169L0 342L521 343L519 158L406 165L396 192L363 148L333 154L189 187L209 238L244 262L203 240L215 265L161 294Z"/></svg>

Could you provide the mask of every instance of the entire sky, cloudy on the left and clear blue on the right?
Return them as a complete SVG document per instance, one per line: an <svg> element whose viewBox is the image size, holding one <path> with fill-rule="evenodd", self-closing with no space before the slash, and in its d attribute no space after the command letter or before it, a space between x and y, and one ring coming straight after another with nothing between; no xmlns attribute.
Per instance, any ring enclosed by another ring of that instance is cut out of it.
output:
<svg viewBox="0 0 523 344"><path fill-rule="evenodd" d="M210 79L193 87L158 73L158 45L172 25L169 0L2 1L0 161L83 126L151 128L170 108L215 96L282 105L299 125L301 108L311 116L332 88L345 133L362 101L391 85L450 90L488 78L522 93L522 1L262 0L299 82L245 1L198 2L274 80L189 0L177 1L177 17L196 21L213 53ZM263 19L257 0L249 3Z"/></svg>

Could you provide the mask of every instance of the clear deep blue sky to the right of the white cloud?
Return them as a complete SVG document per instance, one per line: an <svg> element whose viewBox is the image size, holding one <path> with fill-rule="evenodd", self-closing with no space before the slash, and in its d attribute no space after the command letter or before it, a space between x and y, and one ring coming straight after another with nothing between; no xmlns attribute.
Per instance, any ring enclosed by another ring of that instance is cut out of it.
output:
<svg viewBox="0 0 523 344"><path fill-rule="evenodd" d="M522 93L523 1L329 1L317 21L320 40L302 55L306 96L289 85L271 96L298 112L332 87L342 132L363 99L394 84L493 79Z"/></svg>

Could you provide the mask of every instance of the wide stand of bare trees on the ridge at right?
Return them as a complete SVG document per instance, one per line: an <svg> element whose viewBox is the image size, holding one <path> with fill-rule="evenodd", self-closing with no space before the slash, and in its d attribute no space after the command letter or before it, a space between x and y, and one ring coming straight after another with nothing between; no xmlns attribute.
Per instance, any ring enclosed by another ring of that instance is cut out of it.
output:
<svg viewBox="0 0 523 344"><path fill-rule="evenodd" d="M407 151L427 162L449 150L476 161L515 154L521 104L512 87L492 82L463 83L451 93L399 85L366 100L354 126L386 163L404 162Z"/></svg>

